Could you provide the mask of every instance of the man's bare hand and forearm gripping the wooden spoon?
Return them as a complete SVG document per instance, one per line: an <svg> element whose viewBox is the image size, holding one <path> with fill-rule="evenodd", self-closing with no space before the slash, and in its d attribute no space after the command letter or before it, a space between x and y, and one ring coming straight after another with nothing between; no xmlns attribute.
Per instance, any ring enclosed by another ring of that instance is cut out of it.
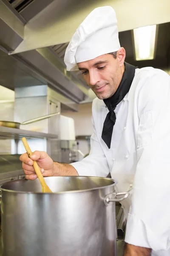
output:
<svg viewBox="0 0 170 256"><path fill-rule="evenodd" d="M44 151L34 151L31 157L28 157L27 153L20 156L20 161L23 162L22 166L27 180L35 180L37 178L33 168L33 160L37 161L44 177L78 176L76 169L70 164L53 162L51 157Z"/></svg>

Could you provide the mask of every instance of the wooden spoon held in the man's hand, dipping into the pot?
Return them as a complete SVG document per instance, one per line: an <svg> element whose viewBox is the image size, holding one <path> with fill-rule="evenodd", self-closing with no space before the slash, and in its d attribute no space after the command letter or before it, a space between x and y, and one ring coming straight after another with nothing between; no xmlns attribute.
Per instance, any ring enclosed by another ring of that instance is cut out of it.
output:
<svg viewBox="0 0 170 256"><path fill-rule="evenodd" d="M27 142L26 138L22 138L22 142L24 144L24 147L26 148L28 157L31 157L32 152L31 152L31 149L28 145L28 142ZM33 163L34 170L35 170L35 172L37 174L37 177L39 178L41 186L42 186L42 192L52 193L51 189L45 183L44 177L42 176L42 173L40 171L40 167L38 166L37 162L36 161L33 161L33 162L34 162Z"/></svg>

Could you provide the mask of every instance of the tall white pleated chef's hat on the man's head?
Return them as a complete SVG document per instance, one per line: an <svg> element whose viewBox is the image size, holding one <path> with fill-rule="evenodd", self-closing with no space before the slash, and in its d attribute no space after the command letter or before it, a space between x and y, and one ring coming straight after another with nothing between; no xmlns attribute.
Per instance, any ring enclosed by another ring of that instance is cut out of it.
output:
<svg viewBox="0 0 170 256"><path fill-rule="evenodd" d="M120 48L116 13L111 6L94 9L71 38L64 62L68 71L78 70L77 63Z"/></svg>

